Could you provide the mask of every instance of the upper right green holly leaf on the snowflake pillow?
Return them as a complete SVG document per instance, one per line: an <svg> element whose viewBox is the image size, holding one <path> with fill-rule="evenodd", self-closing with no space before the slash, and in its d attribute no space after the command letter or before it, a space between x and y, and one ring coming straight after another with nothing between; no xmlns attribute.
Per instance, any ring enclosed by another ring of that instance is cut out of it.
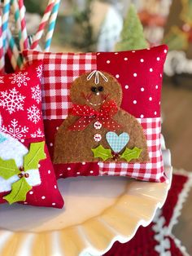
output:
<svg viewBox="0 0 192 256"><path fill-rule="evenodd" d="M46 159L45 142L31 143L27 155L24 156L24 171L38 169L40 160Z"/></svg>

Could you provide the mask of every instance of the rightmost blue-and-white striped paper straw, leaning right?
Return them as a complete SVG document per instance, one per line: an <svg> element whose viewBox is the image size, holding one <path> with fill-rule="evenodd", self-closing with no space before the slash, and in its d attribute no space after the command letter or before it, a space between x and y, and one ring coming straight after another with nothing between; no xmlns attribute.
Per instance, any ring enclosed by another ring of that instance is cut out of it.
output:
<svg viewBox="0 0 192 256"><path fill-rule="evenodd" d="M51 40L53 38L55 23L56 23L58 11L59 11L59 4L60 4L60 0L55 0L55 5L54 5L53 10L50 15L50 24L49 24L48 31L46 34L45 51L50 51L50 44L51 44Z"/></svg>

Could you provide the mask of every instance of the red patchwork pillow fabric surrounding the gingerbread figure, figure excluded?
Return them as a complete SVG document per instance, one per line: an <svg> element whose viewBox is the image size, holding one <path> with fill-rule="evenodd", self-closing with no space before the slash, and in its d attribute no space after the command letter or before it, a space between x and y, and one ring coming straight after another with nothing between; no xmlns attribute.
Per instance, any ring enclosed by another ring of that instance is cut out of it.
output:
<svg viewBox="0 0 192 256"><path fill-rule="evenodd" d="M160 149L160 96L167 46L139 51L97 53L43 53L24 51L28 63L43 60L42 108L46 142L53 157L55 133L72 108L69 90L76 77L93 70L110 73L120 82L120 108L137 118L146 135L150 161L146 163L80 162L55 164L59 178L80 175L122 175L146 181L164 182Z"/></svg>

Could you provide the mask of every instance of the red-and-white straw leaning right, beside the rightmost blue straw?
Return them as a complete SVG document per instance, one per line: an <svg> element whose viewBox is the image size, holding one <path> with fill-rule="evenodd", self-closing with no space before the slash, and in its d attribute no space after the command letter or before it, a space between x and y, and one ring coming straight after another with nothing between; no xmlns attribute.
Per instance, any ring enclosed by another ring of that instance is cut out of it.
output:
<svg viewBox="0 0 192 256"><path fill-rule="evenodd" d="M34 37L34 41L33 41L33 44L31 46L31 49L35 49L39 43L39 40L41 39L41 36L44 32L44 29L46 27L46 23L48 22L48 20L50 19L50 13L54 7L54 4L55 4L55 0L50 0L49 3L48 3L48 6L46 7L46 11L42 17L42 20L41 20L41 24L39 25L39 28L37 30L37 33Z"/></svg>

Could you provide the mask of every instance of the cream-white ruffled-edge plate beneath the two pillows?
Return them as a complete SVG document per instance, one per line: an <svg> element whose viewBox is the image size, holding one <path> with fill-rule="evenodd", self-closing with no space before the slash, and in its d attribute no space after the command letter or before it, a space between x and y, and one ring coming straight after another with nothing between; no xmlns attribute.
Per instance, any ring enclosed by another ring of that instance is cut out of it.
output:
<svg viewBox="0 0 192 256"><path fill-rule="evenodd" d="M171 179L167 150L164 165ZM0 205L1 256L102 255L115 241L129 241L140 225L151 223L170 183L79 177L59 180L59 188L63 210Z"/></svg>

